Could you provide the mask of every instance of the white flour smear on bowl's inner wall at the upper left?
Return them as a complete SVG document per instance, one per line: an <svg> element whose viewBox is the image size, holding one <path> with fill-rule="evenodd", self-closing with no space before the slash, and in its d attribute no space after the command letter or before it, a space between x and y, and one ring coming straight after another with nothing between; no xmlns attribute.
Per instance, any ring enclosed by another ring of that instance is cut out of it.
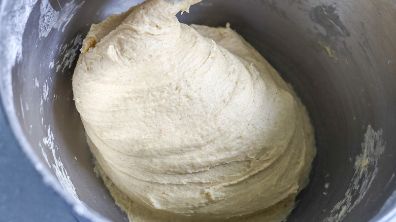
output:
<svg viewBox="0 0 396 222"><path fill-rule="evenodd" d="M56 11L52 8L48 0L43 0L40 4L40 39L47 37L52 28L55 28L58 31L61 30L63 32L84 2L85 1L77 5L73 0L70 3L66 3L64 6L59 5L60 11Z"/></svg>

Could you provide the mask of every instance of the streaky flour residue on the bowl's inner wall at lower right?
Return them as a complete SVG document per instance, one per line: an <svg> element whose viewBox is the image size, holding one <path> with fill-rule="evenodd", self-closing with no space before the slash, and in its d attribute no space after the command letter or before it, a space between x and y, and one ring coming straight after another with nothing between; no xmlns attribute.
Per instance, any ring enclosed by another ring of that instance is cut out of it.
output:
<svg viewBox="0 0 396 222"><path fill-rule="evenodd" d="M378 160L385 150L385 144L382 139L382 129L375 132L369 125L365 141L361 144L362 152L356 156L355 172L345 198L334 206L331 214L324 221L341 221L364 198L378 172Z"/></svg>

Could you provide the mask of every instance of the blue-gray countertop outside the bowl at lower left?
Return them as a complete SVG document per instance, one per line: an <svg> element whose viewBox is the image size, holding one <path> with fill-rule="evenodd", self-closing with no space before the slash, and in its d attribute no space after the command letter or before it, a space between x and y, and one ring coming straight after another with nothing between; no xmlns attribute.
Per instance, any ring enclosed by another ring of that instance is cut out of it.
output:
<svg viewBox="0 0 396 222"><path fill-rule="evenodd" d="M0 221L78 221L68 204L44 184L25 156L1 107Z"/></svg>

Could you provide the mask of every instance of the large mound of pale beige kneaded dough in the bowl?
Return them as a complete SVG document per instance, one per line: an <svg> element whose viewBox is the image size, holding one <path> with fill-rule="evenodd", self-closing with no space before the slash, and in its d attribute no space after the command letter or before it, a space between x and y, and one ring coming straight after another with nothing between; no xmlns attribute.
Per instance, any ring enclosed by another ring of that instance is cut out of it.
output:
<svg viewBox="0 0 396 222"><path fill-rule="evenodd" d="M91 150L133 221L279 221L315 155L307 112L229 25L179 23L197 2L92 25L73 76Z"/></svg>

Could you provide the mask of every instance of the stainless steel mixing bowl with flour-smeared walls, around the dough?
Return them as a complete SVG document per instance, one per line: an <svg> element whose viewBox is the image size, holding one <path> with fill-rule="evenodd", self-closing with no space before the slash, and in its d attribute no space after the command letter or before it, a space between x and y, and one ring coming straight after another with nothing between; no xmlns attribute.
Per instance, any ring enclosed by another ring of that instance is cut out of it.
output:
<svg viewBox="0 0 396 222"><path fill-rule="evenodd" d="M73 69L90 24L139 2L1 2L3 108L23 150L82 220L127 221L93 172ZM288 221L396 220L395 0L204 0L179 19L229 22L307 106L317 156ZM369 161L355 166L358 155Z"/></svg>

